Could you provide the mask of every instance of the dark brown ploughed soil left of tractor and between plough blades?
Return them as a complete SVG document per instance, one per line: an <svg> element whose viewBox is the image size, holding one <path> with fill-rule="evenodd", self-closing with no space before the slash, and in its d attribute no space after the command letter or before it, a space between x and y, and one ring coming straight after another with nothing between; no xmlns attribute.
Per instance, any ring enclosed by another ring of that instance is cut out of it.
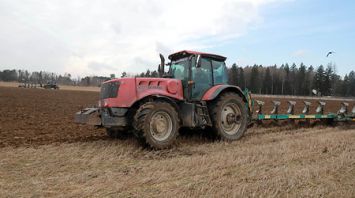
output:
<svg viewBox="0 0 355 198"><path fill-rule="evenodd" d="M98 92L0 87L0 147L107 139L104 129L74 123L74 114L83 107L94 106L97 100ZM269 113L275 99L260 100L265 102L264 112ZM284 113L287 99L280 101L279 113ZM302 100L295 101L295 113L300 113ZM309 101L314 112L317 101ZM325 113L336 113L339 107L340 101L327 101Z"/></svg>

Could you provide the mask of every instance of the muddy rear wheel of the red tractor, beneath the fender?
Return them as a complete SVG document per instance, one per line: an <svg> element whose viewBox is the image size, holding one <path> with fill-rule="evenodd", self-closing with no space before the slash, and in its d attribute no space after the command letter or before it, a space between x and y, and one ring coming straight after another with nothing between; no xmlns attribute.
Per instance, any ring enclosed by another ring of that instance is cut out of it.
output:
<svg viewBox="0 0 355 198"><path fill-rule="evenodd" d="M238 140L248 126L248 110L242 98L235 93L225 93L210 106L213 131L226 141Z"/></svg>

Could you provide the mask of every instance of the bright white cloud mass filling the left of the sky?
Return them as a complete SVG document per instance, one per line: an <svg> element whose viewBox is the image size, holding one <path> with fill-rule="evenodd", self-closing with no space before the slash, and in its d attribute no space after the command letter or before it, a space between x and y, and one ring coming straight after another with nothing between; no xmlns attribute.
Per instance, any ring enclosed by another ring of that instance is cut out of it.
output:
<svg viewBox="0 0 355 198"><path fill-rule="evenodd" d="M156 69L160 52L237 38L262 21L260 8L279 1L2 0L0 67L74 75Z"/></svg>

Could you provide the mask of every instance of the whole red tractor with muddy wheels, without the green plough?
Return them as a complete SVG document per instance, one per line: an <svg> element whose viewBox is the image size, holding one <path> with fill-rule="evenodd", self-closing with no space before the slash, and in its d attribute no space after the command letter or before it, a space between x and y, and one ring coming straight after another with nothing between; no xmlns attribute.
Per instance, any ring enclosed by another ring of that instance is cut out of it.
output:
<svg viewBox="0 0 355 198"><path fill-rule="evenodd" d="M243 136L251 117L249 95L228 85L226 57L180 51L168 64L160 58L159 78L103 83L98 108L83 109L75 121L105 127L111 137L133 131L157 149L171 146L180 127L211 128L223 140Z"/></svg>

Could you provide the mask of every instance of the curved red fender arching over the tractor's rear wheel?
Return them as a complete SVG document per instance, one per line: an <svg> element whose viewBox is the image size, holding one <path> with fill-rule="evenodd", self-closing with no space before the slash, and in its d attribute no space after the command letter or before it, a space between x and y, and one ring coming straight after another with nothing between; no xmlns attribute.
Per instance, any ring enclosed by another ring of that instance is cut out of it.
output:
<svg viewBox="0 0 355 198"><path fill-rule="evenodd" d="M217 96L219 96L222 92L225 91L235 92L243 99L244 102L248 102L248 99L243 94L243 91L240 89L240 87L234 85L215 85L203 95L202 100L214 100L215 98L217 98Z"/></svg>

